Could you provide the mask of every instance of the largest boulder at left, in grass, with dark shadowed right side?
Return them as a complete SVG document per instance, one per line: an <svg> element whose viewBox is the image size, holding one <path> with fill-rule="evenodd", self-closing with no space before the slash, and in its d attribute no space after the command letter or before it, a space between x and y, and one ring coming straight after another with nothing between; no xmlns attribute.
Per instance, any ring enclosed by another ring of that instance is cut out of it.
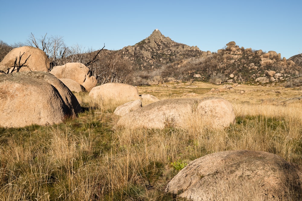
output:
<svg viewBox="0 0 302 201"><path fill-rule="evenodd" d="M48 72L0 75L0 126L61 123L81 110L72 92Z"/></svg>

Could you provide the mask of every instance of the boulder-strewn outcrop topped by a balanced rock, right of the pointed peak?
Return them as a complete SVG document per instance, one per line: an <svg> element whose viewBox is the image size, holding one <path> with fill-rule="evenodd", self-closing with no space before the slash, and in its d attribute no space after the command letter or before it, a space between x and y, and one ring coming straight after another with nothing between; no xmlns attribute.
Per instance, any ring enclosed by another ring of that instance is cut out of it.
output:
<svg viewBox="0 0 302 201"><path fill-rule="evenodd" d="M239 47L234 41L226 44L225 49L219 49L218 55L222 56L219 68L228 68L226 80L229 83L252 81L258 83L281 82L299 74L299 69L294 61L281 59L281 54L275 51L267 53L260 50ZM231 68L236 64L237 68ZM250 75L249 78L244 74Z"/></svg>

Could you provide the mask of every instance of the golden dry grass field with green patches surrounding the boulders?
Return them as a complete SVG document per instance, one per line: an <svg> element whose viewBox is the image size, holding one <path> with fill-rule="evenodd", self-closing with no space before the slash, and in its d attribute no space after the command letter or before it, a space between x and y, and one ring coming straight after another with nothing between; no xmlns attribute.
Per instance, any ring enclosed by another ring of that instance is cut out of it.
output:
<svg viewBox="0 0 302 201"><path fill-rule="evenodd" d="M119 103L76 93L84 111L75 119L0 128L0 200L183 200L165 193L166 184L192 160L224 150L271 152L302 167L302 101L283 102L301 90L241 85L209 93L218 86L198 82L137 88L159 99L222 97L232 103L236 123L223 130L198 122L115 128Z"/></svg>

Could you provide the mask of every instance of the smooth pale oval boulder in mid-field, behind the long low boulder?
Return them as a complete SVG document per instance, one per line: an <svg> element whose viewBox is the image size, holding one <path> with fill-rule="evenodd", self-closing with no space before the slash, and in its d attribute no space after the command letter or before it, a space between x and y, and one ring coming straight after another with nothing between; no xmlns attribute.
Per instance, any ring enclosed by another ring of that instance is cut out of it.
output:
<svg viewBox="0 0 302 201"><path fill-rule="evenodd" d="M124 83L106 83L95 86L89 92L89 96L104 102L114 101L120 104L140 99L137 88Z"/></svg>

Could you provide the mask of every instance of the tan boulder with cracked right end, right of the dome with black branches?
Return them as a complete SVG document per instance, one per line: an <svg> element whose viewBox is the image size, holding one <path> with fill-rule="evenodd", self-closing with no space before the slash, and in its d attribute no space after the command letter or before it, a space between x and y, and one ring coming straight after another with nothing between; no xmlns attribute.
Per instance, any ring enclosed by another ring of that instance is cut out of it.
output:
<svg viewBox="0 0 302 201"><path fill-rule="evenodd" d="M75 80L87 91L90 91L97 84L96 78L90 76L89 68L81 63L66 63L62 66L55 66L50 73L59 79Z"/></svg>

